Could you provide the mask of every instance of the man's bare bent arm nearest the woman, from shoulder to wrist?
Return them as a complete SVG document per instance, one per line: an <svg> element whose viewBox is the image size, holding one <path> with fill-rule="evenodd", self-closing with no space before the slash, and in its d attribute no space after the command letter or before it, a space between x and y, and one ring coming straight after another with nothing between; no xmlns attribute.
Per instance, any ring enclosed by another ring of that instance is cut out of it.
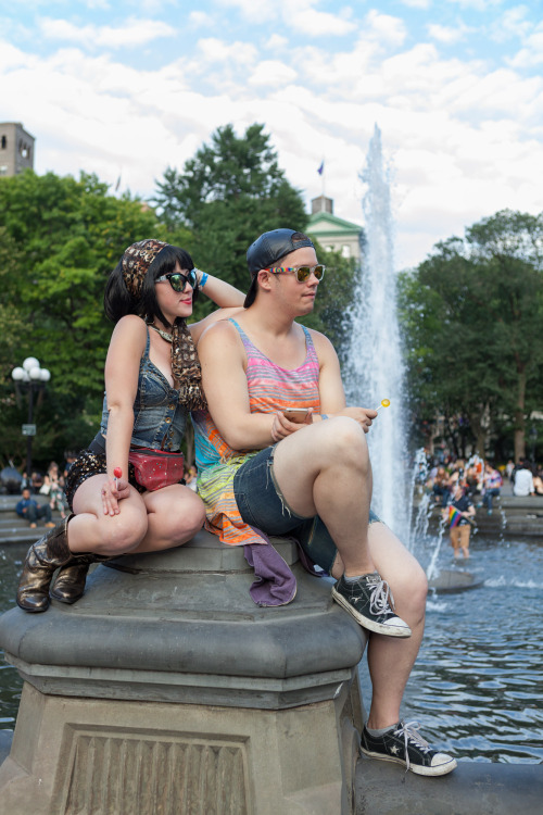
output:
<svg viewBox="0 0 543 815"><path fill-rule="evenodd" d="M218 431L233 450L258 450L277 439L275 413L251 413L245 352L235 327L214 323L198 343L202 384Z"/></svg>

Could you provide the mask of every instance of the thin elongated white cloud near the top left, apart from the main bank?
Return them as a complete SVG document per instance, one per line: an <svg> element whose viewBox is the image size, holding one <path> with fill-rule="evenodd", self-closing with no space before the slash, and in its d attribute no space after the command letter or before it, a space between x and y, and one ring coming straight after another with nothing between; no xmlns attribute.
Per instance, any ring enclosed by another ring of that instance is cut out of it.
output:
<svg viewBox="0 0 543 815"><path fill-rule="evenodd" d="M128 20L117 28L111 26L76 26L65 20L40 21L41 34L46 39L65 40L87 47L122 48L141 46L161 37L173 37L175 28L155 20Z"/></svg>

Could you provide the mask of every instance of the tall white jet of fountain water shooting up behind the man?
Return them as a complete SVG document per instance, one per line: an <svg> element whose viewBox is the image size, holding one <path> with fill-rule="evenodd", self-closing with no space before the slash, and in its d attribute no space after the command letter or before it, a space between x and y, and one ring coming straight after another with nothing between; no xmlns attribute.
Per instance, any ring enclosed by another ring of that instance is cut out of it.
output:
<svg viewBox="0 0 543 815"><path fill-rule="evenodd" d="M374 471L371 507L408 544L411 496L402 360L396 312L396 274L390 183L383 165L381 134L375 127L366 166L363 200L365 235L361 239L362 269L348 314L350 344L343 365L349 404L370 406L383 396L381 411L368 434Z"/></svg>

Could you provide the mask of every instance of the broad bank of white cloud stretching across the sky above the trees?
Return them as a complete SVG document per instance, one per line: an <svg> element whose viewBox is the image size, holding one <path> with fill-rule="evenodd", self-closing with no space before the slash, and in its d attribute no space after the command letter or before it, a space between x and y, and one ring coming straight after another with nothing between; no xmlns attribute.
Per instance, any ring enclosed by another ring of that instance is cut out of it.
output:
<svg viewBox="0 0 543 815"><path fill-rule="evenodd" d="M50 49L50 55L34 54L31 37L25 50L0 42L2 116L23 121L36 136L37 172L77 176L85 168L112 185L122 172L122 189L151 197L166 166L181 167L219 125L231 122L242 133L258 122L307 203L321 191L316 170L325 158L326 193L336 214L362 223L358 174L377 123L394 167L399 265L418 263L438 240L462 235L466 225L504 206L541 210L534 167L543 162L543 78L530 72L543 53L542 27L527 29L520 12L510 20L515 36L523 37L521 47L509 64L498 49L493 70L482 58L443 59L435 41L413 46L408 15L404 21L377 7L363 20L338 12L340 21L354 21L358 33L349 46L334 39L331 50L299 37L300 21L285 25L289 13L318 13L313 0L264 0L262 7L254 0L215 2L223 4L213 16L217 27L226 7L245 18L268 15L277 25L243 32L238 15L219 38L193 37L173 61L151 59L137 66L123 64L123 51L113 51L111 41L117 45L128 30L129 41L149 42L138 39L140 24L147 25L141 21L123 27L66 23L56 33L51 27L51 36L60 32L70 47ZM184 20L206 24L210 9L202 3ZM502 18L489 17L488 30ZM435 14L432 23L441 18ZM455 29L434 30L443 41ZM147 34L172 32L168 24ZM90 54L89 36L96 45ZM157 49L162 46L159 41Z"/></svg>

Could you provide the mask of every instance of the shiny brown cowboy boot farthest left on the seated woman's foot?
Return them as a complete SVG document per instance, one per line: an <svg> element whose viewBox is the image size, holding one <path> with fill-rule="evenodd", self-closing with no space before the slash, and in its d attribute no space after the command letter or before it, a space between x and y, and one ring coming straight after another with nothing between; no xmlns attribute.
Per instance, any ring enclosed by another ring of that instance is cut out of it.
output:
<svg viewBox="0 0 543 815"><path fill-rule="evenodd" d="M73 515L33 543L23 566L17 590L17 605L28 612L49 607L49 585L59 566L72 559L67 546L67 525Z"/></svg>

